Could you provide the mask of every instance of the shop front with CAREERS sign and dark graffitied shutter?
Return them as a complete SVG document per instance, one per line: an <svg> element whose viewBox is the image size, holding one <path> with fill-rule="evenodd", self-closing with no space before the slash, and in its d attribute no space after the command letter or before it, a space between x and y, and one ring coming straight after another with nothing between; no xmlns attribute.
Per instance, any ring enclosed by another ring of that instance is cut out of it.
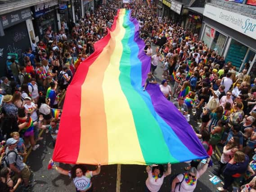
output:
<svg viewBox="0 0 256 192"><path fill-rule="evenodd" d="M22 53L31 47L31 39L34 37L33 30L28 29L27 23L31 21L31 9L21 9L11 13L0 15L4 36L0 36L0 76L6 75L7 56L14 57L22 63Z"/></svg>

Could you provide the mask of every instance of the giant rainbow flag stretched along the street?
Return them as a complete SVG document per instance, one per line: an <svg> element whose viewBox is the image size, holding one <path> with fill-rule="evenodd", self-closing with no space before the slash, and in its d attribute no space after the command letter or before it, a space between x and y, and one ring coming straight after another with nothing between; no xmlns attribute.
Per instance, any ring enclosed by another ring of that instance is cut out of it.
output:
<svg viewBox="0 0 256 192"><path fill-rule="evenodd" d="M130 11L117 12L67 89L53 160L70 164L164 164L207 152L158 85L142 85L150 58Z"/></svg>

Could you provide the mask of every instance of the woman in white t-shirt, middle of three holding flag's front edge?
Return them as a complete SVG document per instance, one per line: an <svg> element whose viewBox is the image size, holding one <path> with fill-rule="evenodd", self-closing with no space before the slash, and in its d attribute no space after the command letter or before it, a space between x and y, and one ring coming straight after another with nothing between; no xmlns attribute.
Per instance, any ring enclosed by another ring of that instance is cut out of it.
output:
<svg viewBox="0 0 256 192"><path fill-rule="evenodd" d="M164 172L162 165L147 166L148 179L146 180L145 192L158 192L163 184L164 178L171 174L171 164L167 164L167 170Z"/></svg>

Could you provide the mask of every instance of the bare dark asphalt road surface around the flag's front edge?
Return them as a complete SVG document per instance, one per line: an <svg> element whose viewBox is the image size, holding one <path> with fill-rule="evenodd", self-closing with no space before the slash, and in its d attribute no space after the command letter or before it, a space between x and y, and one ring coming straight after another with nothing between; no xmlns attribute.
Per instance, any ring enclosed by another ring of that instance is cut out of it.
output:
<svg viewBox="0 0 256 192"><path fill-rule="evenodd" d="M155 47L153 46L153 51ZM162 64L159 63L155 71L157 82L162 81ZM172 86L171 86L172 87ZM114 106L113 106L114 107ZM192 119L192 118L191 118ZM192 120L190 122L195 129L198 125ZM71 128L72 129L72 128ZM53 143L49 140L49 136L43 134L45 140L40 141L40 147L27 158L27 165L32 170L31 192L75 192L75 187L71 179L67 176L58 174L55 170L47 170L48 162L53 155ZM71 138L72 139L72 136ZM67 141L68 142L68 141ZM97 144L97 143L95 143ZM215 161L215 155L213 155ZM160 192L170 192L172 175L184 173L186 163L172 165L172 173L168 176L162 185ZM70 170L71 165L60 164L64 169ZM142 165L121 165L121 181L120 192L144 192L145 180L147 179L146 166ZM94 170L96 166L88 165L87 169ZM220 187L218 183L214 185L209 180L212 168L208 168L205 174L198 179L197 188L194 192L216 192L216 187ZM92 178L94 192L116 192L117 183L117 165L101 166L101 173ZM21 192L19 188L18 192Z"/></svg>

